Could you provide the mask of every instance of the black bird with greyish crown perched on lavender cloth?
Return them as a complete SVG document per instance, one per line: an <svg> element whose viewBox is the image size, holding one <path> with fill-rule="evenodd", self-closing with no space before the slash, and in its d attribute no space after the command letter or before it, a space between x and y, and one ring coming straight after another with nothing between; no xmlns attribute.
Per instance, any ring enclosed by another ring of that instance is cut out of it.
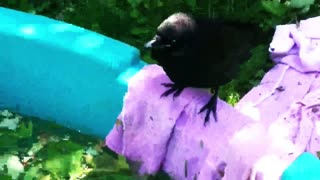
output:
<svg viewBox="0 0 320 180"><path fill-rule="evenodd" d="M157 28L154 38L145 44L151 57L163 67L173 83L161 97L174 97L186 87L211 88L213 96L200 109L205 121L213 113L215 121L219 86L231 81L240 64L250 57L250 49L261 42L262 30L251 23L223 21L175 13Z"/></svg>

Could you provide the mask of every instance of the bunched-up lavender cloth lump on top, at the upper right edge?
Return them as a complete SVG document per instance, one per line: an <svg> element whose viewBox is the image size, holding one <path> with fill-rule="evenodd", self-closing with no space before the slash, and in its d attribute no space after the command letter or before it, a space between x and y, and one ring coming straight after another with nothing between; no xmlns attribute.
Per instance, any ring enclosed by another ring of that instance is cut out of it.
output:
<svg viewBox="0 0 320 180"><path fill-rule="evenodd" d="M278 25L269 51L275 62L300 72L320 71L320 16L295 24Z"/></svg>

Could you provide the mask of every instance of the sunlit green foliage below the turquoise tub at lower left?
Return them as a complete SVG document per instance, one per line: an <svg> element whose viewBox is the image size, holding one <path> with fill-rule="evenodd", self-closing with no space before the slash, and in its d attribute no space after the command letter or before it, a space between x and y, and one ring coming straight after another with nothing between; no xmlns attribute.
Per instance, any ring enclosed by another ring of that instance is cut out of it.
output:
<svg viewBox="0 0 320 180"><path fill-rule="evenodd" d="M17 128L0 128L1 180L134 179L126 159L100 139L54 122L0 111L0 125L3 119L16 118ZM168 176L161 172L146 178L165 180Z"/></svg>

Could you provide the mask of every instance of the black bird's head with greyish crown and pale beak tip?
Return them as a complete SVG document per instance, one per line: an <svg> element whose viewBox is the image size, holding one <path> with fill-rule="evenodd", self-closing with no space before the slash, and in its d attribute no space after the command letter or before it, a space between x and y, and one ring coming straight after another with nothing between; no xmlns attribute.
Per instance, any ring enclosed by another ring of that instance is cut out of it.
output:
<svg viewBox="0 0 320 180"><path fill-rule="evenodd" d="M195 31L194 19L185 13L175 13L165 19L157 28L152 40L145 44L151 49L155 60L186 54Z"/></svg>

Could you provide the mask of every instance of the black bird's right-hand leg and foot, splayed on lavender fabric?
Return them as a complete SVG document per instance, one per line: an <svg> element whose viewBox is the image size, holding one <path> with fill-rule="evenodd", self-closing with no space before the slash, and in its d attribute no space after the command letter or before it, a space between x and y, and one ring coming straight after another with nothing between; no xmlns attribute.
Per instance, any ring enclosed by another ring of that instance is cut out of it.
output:
<svg viewBox="0 0 320 180"><path fill-rule="evenodd" d="M206 111L206 117L204 119L204 125L206 125L206 123L209 122L210 113L211 112L213 114L213 117L214 117L215 121L216 122L218 121L218 119L217 119L218 90L219 90L219 87L215 88L213 96L210 98L209 102L206 105L204 105L199 111L199 113L202 113L203 111ZM212 89L211 89L211 92L212 92Z"/></svg>

